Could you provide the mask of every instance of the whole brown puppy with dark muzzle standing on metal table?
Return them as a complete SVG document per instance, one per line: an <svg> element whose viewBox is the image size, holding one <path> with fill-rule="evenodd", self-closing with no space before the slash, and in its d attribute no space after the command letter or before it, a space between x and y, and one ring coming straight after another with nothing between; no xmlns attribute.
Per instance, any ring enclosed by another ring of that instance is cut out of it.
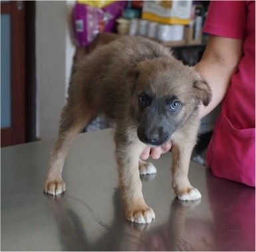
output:
<svg viewBox="0 0 256 252"><path fill-rule="evenodd" d="M76 134L98 114L116 121L116 161L126 218L150 223L154 211L142 195L140 174L156 172L140 160L146 146L172 140L172 186L179 199L199 199L188 180L197 138L200 102L211 100L211 90L193 67L174 59L170 49L142 37L122 37L99 47L74 65L68 99L61 114L44 191L62 193L61 174L68 148Z"/></svg>

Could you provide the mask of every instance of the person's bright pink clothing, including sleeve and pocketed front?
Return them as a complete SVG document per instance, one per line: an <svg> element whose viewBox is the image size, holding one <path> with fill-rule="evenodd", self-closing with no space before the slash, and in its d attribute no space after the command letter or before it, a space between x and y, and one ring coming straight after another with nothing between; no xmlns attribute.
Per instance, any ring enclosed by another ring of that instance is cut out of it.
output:
<svg viewBox="0 0 256 252"><path fill-rule="evenodd" d="M243 39L207 150L213 174L255 186L255 1L211 1L205 33Z"/></svg>

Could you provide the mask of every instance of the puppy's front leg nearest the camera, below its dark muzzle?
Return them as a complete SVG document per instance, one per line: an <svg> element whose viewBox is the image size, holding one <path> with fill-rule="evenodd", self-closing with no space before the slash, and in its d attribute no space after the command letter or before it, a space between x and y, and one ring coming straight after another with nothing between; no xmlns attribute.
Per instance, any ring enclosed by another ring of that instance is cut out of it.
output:
<svg viewBox="0 0 256 252"><path fill-rule="evenodd" d="M122 191L126 219L136 223L150 223L155 218L155 213L144 201L138 169L140 153L145 145L135 134L118 130L115 142L119 187Z"/></svg>

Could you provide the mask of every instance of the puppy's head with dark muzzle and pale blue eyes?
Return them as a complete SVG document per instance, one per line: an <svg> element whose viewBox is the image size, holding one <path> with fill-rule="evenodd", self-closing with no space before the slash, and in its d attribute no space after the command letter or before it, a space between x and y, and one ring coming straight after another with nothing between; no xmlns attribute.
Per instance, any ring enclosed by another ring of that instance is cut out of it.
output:
<svg viewBox="0 0 256 252"><path fill-rule="evenodd" d="M160 146L186 121L202 102L207 106L211 89L195 72L170 57L142 61L131 70L132 103L138 121L138 138Z"/></svg>

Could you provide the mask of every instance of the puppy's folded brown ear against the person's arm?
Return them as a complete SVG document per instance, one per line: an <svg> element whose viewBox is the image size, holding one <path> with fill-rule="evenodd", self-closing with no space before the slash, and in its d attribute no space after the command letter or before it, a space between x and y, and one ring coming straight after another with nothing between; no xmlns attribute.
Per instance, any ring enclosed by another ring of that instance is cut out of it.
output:
<svg viewBox="0 0 256 252"><path fill-rule="evenodd" d="M193 88L195 88L195 94L199 100L203 102L204 106L208 106L211 102L211 88L206 80L195 80L193 82Z"/></svg>

